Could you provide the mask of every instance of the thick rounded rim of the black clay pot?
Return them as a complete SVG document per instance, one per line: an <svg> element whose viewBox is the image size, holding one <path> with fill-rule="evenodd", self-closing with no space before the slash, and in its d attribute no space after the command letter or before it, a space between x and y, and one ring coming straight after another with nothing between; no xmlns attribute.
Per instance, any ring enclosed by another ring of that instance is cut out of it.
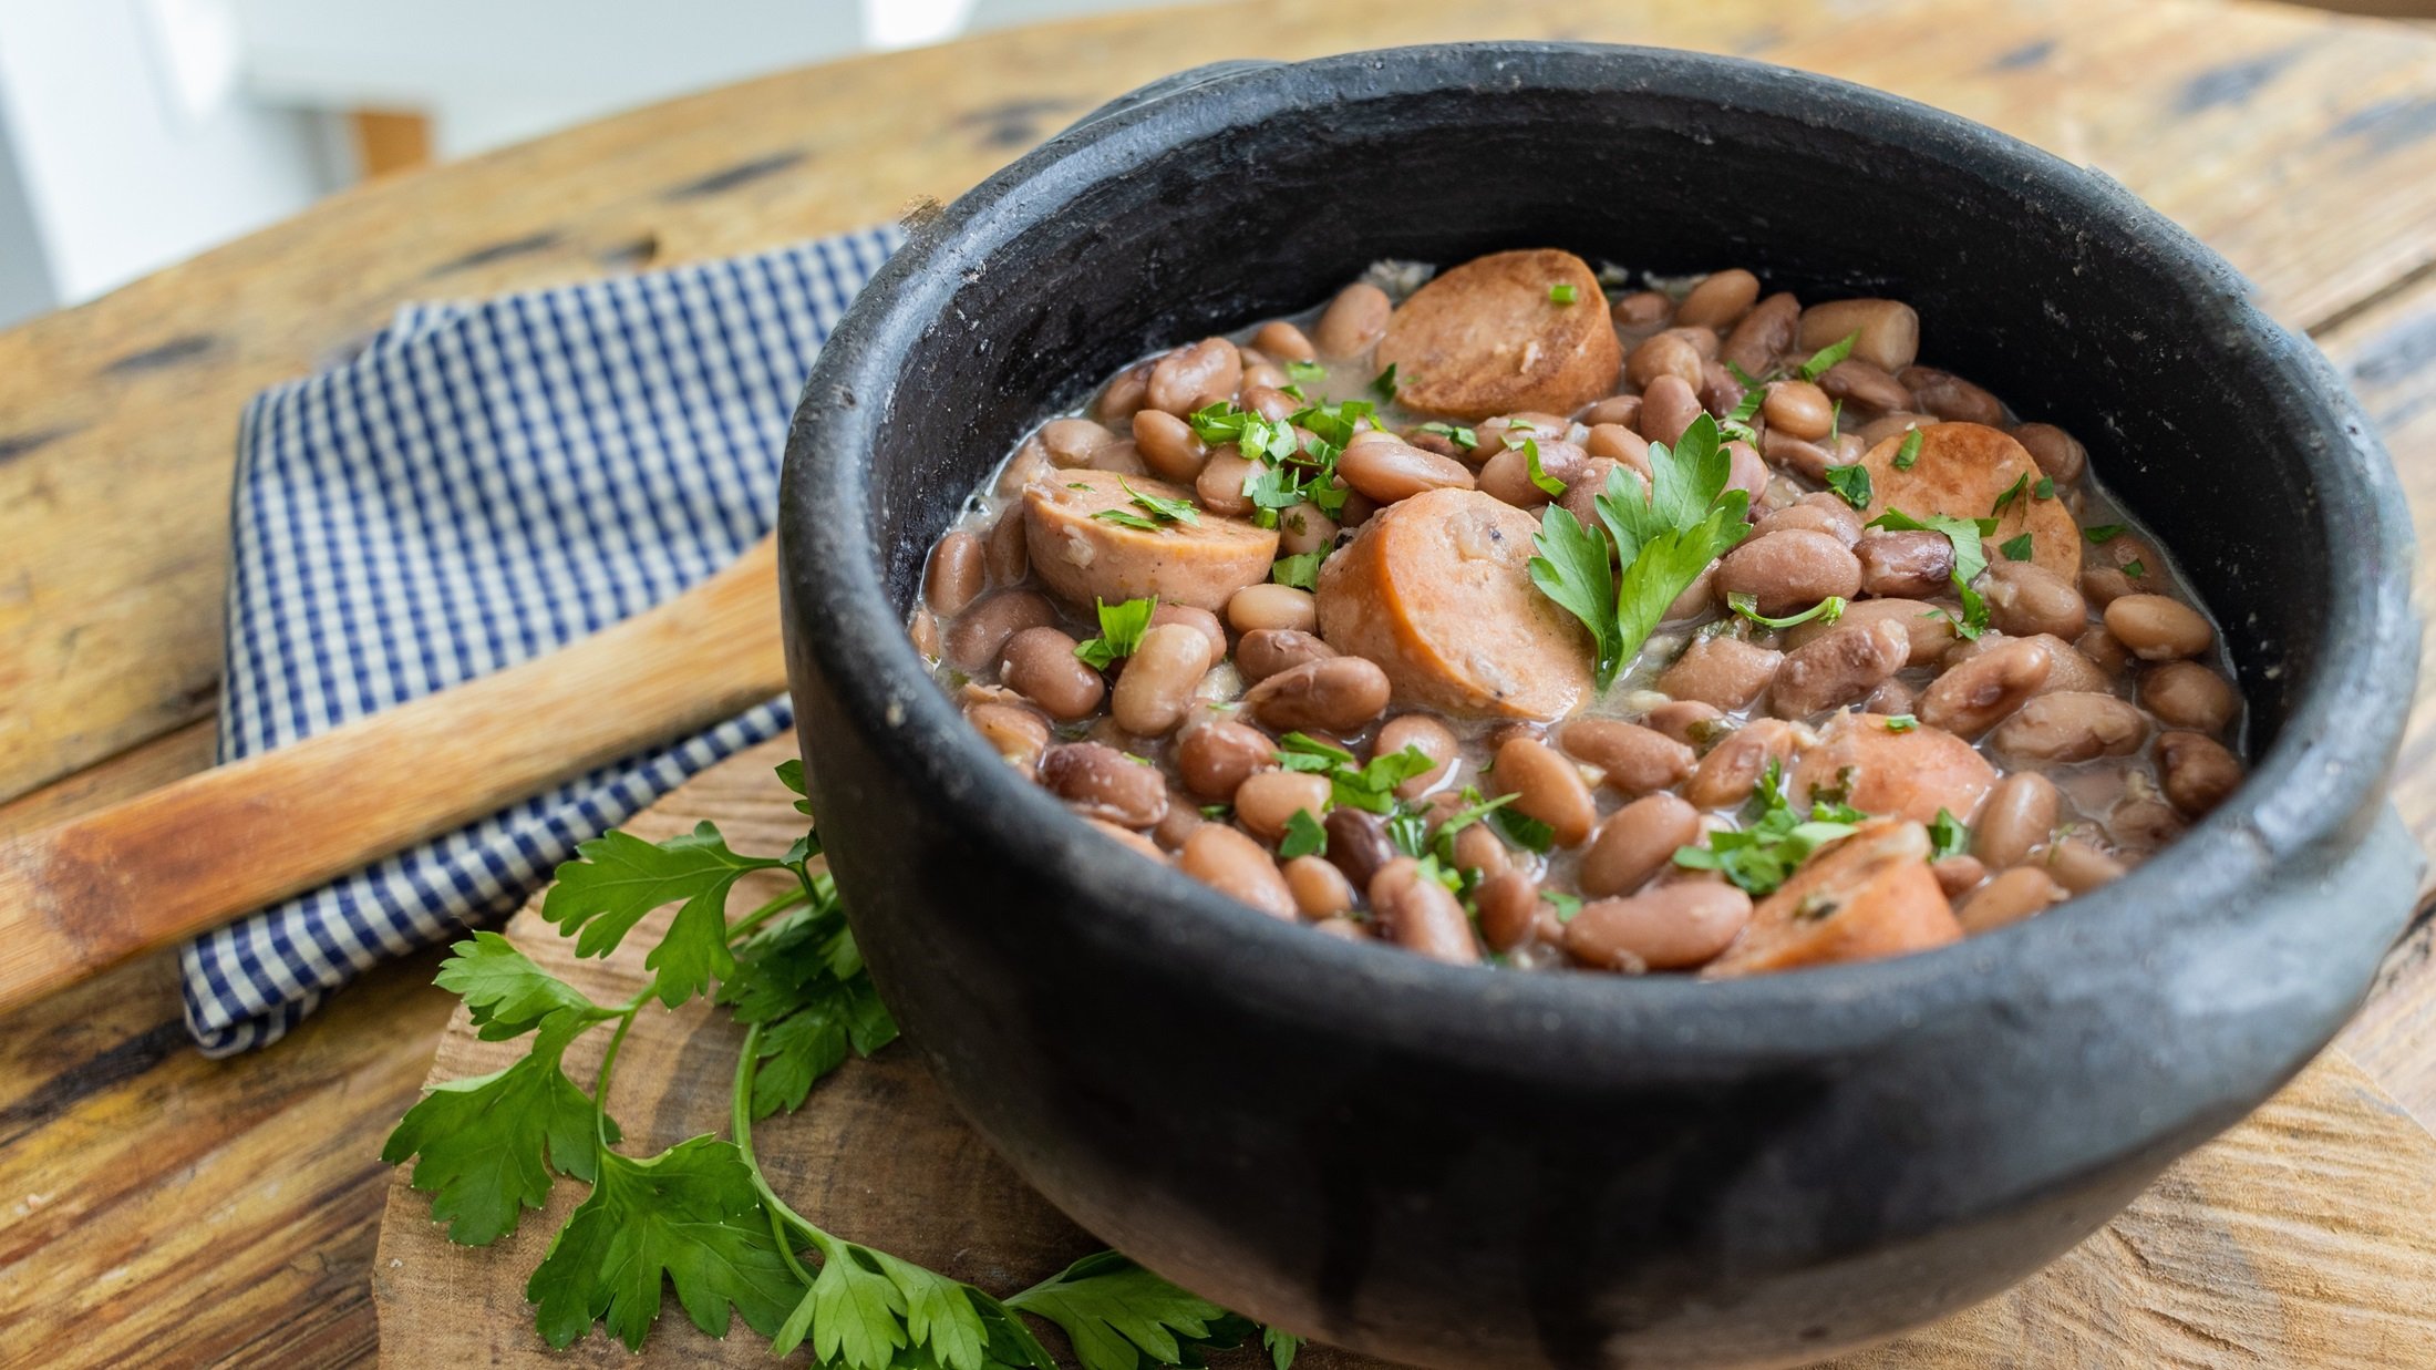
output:
<svg viewBox="0 0 2436 1370"><path fill-rule="evenodd" d="M1315 102L1484 83L1708 102L1900 144L1905 156L2007 195L2066 205L2093 234L2149 258L2161 280L2180 288L2195 317L2214 324L2217 346L2270 385L2270 402L2292 417L2283 431L2307 434L2290 446L2317 492L2317 536L2334 548L2317 663L2241 790L2122 880L2036 919L1888 960L1695 980L1484 973L1311 936L1169 865L1118 858L1108 839L1004 765L923 670L879 580L870 451L904 353L955 317L967 273L984 271L994 251L1060 215L1086 185ZM1596 1056L1649 1070L1656 1043L1700 1056L1810 1058L1907 1031L1937 1007L2068 999L2058 980L2093 956L2144 963L2175 936L2300 917L2302 904L2248 895L2300 853L2358 846L2417 680L2412 534L2392 463L2324 358L2268 319L2224 258L2102 173L1912 100L1744 59L1610 44L1432 44L1235 68L1121 100L911 234L828 339L787 446L780 536L797 651L818 663L875 753L918 773L918 787L994 848L1009 880L1077 895L1057 936L1123 939L1177 970L1225 975L1264 1012L1476 1063L1559 1058L1557 1068L1579 1073ZM1510 1053L1518 1036L1540 1041L1540 1051ZM1557 1038L1566 1051L1549 1053Z"/></svg>

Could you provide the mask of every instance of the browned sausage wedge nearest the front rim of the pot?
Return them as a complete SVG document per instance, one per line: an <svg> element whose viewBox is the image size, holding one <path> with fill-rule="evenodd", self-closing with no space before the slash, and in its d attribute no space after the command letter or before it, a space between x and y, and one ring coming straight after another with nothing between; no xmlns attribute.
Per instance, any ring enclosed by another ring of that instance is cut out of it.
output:
<svg viewBox="0 0 2436 1370"><path fill-rule="evenodd" d="M1929 834L1868 824L1812 856L1751 909L1742 936L1700 975L1759 975L1834 960L1876 960L1961 941L1954 904L1929 870Z"/></svg>

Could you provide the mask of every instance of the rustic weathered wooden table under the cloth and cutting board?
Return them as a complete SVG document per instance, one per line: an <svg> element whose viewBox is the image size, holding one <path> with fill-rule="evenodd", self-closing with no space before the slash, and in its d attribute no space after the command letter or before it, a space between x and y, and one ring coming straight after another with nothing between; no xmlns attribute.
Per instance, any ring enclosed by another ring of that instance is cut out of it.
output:
<svg viewBox="0 0 2436 1370"><path fill-rule="evenodd" d="M2436 34L2168 0L1332 0L994 34L714 90L309 215L0 334L0 831L209 761L236 414L407 300L667 266L952 197L1191 61L1459 37L1737 51L2095 163L2351 375L2436 514ZM2421 587L2426 587L2421 573ZM2429 685L2424 685L2429 687ZM2424 719L2421 719L2424 722ZM2436 731L2397 802L2436 836ZM2436 1121L2429 926L2346 1051ZM380 1136L451 999L434 956L207 1063L171 958L0 1019L0 1365L370 1358Z"/></svg>

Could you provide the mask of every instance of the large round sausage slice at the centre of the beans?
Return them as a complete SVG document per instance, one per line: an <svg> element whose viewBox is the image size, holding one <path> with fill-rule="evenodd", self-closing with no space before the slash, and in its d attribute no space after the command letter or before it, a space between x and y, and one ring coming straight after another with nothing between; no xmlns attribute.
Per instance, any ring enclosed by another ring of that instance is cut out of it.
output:
<svg viewBox="0 0 2436 1370"><path fill-rule="evenodd" d="M1391 505L1320 568L1320 636L1386 668L1403 705L1564 717L1591 690L1591 639L1530 583L1537 531L1479 490Z"/></svg>

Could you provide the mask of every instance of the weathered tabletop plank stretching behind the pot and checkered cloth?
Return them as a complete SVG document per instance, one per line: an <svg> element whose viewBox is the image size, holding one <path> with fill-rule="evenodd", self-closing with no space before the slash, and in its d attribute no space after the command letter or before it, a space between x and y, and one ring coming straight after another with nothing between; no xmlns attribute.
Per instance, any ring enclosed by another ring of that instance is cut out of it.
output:
<svg viewBox="0 0 2436 1370"><path fill-rule="evenodd" d="M2217 241L2287 319L2331 317L2436 258L2424 37L2207 0L1956 15L1920 0L1111 15L772 76L358 188L0 334L0 797L207 709L229 451L263 385L341 353L404 300L748 251L950 197L1184 61L1459 37L1742 51L2093 161Z"/></svg>

